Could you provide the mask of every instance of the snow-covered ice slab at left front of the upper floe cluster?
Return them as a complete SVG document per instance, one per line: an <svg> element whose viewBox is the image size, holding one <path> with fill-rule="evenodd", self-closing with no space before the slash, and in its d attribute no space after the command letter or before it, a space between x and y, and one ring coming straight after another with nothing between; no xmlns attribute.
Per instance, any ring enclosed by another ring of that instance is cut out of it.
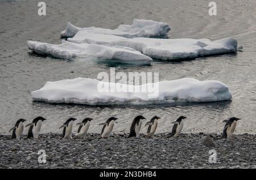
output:
<svg viewBox="0 0 256 180"><path fill-rule="evenodd" d="M69 60L75 57L95 57L101 61L136 65L150 65L152 61L152 58L135 49L118 45L77 44L63 40L63 43L59 45L27 41L27 46L36 53Z"/></svg>

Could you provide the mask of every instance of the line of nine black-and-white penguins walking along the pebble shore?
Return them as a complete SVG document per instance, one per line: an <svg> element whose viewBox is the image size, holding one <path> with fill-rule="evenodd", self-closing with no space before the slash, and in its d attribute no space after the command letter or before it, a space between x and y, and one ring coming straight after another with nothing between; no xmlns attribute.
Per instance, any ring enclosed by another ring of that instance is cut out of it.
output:
<svg viewBox="0 0 256 180"><path fill-rule="evenodd" d="M108 120L106 120L105 123L99 124L99 125L103 125L103 128L101 130L102 138L108 138L110 136L110 133L112 133L114 124L117 123L117 121L116 121L117 119L118 118L111 117ZM154 136L156 128L158 127L159 119L160 118L158 116L154 116L153 118L151 118L151 120L149 122L146 123L146 125L148 125L146 136L148 136L148 137ZM172 122L172 124L174 124L174 126L172 127L172 132L169 133L168 137L179 136L179 134L183 128L184 119L187 119L187 118L185 116L180 116L175 122ZM28 134L27 134L28 139L30 139L30 138L38 139L41 125L44 120L46 120L46 119L39 116L38 118L35 118L32 121L32 123L26 125L26 127L30 127L28 129ZM63 125L61 125L60 128L63 128L63 133L62 133L63 139L72 139L72 128L73 128L73 122L75 120L76 120L75 118L69 118ZM81 123L76 124L76 125L79 125L79 129L78 129L77 133L75 134L76 137L81 138L81 139L85 138L86 133L90 127L91 120L93 120L93 119L85 118L84 120L82 120ZM136 116L133 120L133 123L131 124L129 136L127 136L127 137L137 137L138 138L139 131L141 131L141 126L142 126L142 123L144 120L146 120L146 118L144 118L142 115ZM226 124L224 126L222 136L220 138L225 138L226 140L229 140L236 128L238 120L240 120L240 119L236 118L236 117L232 117L232 118L229 118L228 120L224 120L223 122L225 122ZM23 133L25 121L26 121L26 119L19 119L16 122L15 126L10 129L9 132L13 131L13 134L12 134L13 139L17 139L17 140L20 139L20 136Z"/></svg>

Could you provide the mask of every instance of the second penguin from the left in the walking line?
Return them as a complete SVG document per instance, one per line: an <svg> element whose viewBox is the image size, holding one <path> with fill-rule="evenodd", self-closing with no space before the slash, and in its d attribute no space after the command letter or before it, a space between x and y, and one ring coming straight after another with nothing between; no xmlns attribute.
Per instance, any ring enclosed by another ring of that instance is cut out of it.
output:
<svg viewBox="0 0 256 180"><path fill-rule="evenodd" d="M46 120L45 118L38 116L38 118L33 119L32 123L27 124L26 127L30 126L27 133L27 138L38 139L38 135L41 130L42 122Z"/></svg>

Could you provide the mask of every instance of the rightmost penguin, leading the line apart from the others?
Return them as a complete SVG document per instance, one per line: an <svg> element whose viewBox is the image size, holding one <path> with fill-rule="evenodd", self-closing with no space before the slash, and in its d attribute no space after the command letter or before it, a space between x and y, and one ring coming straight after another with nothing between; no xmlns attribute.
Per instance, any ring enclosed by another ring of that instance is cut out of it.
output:
<svg viewBox="0 0 256 180"><path fill-rule="evenodd" d="M229 141L230 137L232 136L234 130L236 129L237 126L237 121L240 120L240 118L236 118L236 117L232 117L229 118L228 120L224 120L223 122L225 122L225 126L223 129L223 133L221 136L222 138L225 138L226 141Z"/></svg>

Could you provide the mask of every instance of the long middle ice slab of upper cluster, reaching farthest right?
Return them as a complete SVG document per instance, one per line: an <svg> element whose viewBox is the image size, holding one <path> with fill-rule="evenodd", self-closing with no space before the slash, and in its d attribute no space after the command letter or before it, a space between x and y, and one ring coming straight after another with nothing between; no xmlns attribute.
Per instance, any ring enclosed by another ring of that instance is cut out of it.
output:
<svg viewBox="0 0 256 180"><path fill-rule="evenodd" d="M121 45L136 49L151 58L161 60L179 60L237 51L237 40L233 38L216 41L210 41L209 39L152 39L146 37L127 39L125 37L97 35L79 31L74 37L67 40L74 43Z"/></svg>

